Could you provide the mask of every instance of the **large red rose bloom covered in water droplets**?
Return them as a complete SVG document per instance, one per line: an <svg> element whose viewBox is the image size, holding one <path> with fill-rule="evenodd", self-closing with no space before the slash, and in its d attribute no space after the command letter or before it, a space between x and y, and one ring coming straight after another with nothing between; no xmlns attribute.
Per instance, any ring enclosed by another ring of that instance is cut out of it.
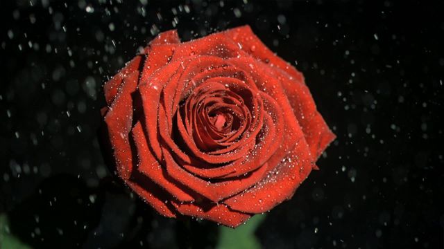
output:
<svg viewBox="0 0 444 249"><path fill-rule="evenodd" d="M248 26L161 33L104 91L117 173L168 217L236 227L290 199L334 139L302 74Z"/></svg>

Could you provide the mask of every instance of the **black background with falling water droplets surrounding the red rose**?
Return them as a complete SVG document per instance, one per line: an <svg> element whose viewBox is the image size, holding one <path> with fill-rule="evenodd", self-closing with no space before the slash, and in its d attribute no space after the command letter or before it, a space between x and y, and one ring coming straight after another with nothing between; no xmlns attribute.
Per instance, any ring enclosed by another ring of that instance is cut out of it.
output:
<svg viewBox="0 0 444 249"><path fill-rule="evenodd" d="M2 0L0 212L35 248L212 248L216 225L165 219L112 178L96 136L101 86L160 31L176 26L189 40L249 24L304 73L338 137L321 170L259 225L262 246L444 248L443 10L443 1Z"/></svg>

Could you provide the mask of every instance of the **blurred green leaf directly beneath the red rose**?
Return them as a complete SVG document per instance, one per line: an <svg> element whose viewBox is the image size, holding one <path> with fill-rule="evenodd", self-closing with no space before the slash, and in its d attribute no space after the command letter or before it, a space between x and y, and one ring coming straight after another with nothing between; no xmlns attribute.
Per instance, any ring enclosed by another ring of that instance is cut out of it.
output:
<svg viewBox="0 0 444 249"><path fill-rule="evenodd" d="M217 249L256 249L262 248L255 236L257 227L265 219L266 214L256 214L246 224L237 228L219 227Z"/></svg>

